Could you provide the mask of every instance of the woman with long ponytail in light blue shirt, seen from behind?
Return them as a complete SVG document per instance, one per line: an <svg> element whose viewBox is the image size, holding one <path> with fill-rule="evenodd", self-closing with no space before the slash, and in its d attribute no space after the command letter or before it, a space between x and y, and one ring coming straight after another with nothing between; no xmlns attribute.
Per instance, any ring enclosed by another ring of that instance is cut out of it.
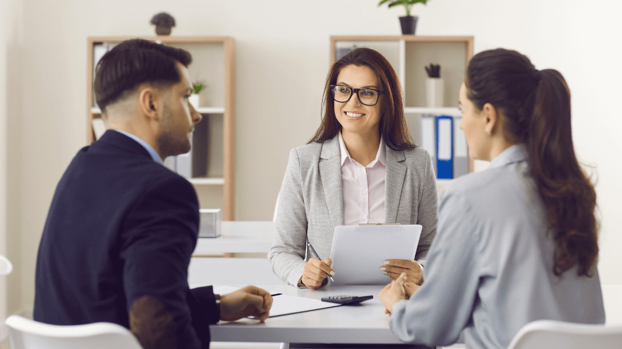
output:
<svg viewBox="0 0 622 349"><path fill-rule="evenodd" d="M460 89L460 128L487 170L449 184L425 283L379 294L404 342L506 348L528 322L603 324L596 194L572 145L570 92L518 52L478 53ZM406 280L407 281L407 280Z"/></svg>

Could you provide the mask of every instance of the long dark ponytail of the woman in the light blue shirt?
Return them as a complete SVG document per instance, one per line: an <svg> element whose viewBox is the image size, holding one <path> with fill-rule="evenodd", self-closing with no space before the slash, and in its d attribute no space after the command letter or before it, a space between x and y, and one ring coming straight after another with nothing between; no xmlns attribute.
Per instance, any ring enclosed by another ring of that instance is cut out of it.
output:
<svg viewBox="0 0 622 349"><path fill-rule="evenodd" d="M596 192L574 152L570 91L559 71L538 75L527 148L555 240L553 271L559 276L577 265L578 274L591 276L598 256Z"/></svg>

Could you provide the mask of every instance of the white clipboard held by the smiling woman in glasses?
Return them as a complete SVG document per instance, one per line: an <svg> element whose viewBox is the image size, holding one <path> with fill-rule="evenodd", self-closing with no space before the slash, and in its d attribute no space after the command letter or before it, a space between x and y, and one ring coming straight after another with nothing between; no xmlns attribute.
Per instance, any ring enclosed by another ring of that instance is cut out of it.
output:
<svg viewBox="0 0 622 349"><path fill-rule="evenodd" d="M340 225L330 250L335 285L385 285L386 260L415 259L421 225Z"/></svg>

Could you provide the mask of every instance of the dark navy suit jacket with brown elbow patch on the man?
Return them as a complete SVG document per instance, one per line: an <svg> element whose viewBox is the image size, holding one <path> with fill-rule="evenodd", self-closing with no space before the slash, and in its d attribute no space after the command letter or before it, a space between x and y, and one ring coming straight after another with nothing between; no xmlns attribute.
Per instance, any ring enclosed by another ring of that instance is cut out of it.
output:
<svg viewBox="0 0 622 349"><path fill-rule="evenodd" d="M190 290L195 190L132 138L82 148L52 199L37 258L34 319L114 322L146 348L208 348L211 286Z"/></svg>

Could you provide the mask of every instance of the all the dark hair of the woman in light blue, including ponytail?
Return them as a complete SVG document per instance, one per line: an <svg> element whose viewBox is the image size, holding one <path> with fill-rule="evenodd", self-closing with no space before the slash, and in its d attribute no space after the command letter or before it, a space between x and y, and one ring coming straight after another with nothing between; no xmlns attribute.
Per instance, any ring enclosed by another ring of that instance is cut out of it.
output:
<svg viewBox="0 0 622 349"><path fill-rule="evenodd" d="M596 192L572 145L564 77L557 70L538 71L524 55L498 48L471 59L465 84L478 109L490 103L503 114L508 141L527 145L555 241L555 275L576 265L578 275L592 276L598 258Z"/></svg>

